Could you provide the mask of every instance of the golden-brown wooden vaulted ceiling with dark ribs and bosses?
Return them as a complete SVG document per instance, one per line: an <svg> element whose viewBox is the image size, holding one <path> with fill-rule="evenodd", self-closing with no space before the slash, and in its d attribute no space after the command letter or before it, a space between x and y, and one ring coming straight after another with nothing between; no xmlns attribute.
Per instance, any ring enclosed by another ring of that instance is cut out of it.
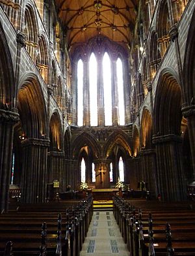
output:
<svg viewBox="0 0 195 256"><path fill-rule="evenodd" d="M103 35L128 46L135 26L138 0L56 0L68 46Z"/></svg>

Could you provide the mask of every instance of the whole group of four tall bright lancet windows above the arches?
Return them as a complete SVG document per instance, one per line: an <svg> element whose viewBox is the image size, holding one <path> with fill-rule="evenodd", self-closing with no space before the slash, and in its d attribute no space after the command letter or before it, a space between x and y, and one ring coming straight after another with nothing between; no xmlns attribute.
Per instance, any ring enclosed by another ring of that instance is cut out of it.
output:
<svg viewBox="0 0 195 256"><path fill-rule="evenodd" d="M85 65L77 61L77 125L125 124L123 63L104 52L92 52Z"/></svg>

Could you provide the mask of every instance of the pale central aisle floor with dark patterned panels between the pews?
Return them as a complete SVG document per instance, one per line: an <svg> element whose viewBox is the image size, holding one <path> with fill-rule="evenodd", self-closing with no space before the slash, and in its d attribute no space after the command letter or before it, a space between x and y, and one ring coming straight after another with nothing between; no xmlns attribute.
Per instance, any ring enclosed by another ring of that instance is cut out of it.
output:
<svg viewBox="0 0 195 256"><path fill-rule="evenodd" d="M128 256L113 212L94 212L80 256Z"/></svg>

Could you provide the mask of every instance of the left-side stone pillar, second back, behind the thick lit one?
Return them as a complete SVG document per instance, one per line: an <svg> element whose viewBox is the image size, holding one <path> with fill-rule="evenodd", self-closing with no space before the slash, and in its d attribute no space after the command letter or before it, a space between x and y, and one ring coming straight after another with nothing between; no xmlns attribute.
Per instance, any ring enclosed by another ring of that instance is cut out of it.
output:
<svg viewBox="0 0 195 256"><path fill-rule="evenodd" d="M64 157L65 154L62 152L48 152L48 168L47 168L47 183L52 183L53 180L59 180L60 189L59 191L65 191L64 186L65 175L64 175Z"/></svg>

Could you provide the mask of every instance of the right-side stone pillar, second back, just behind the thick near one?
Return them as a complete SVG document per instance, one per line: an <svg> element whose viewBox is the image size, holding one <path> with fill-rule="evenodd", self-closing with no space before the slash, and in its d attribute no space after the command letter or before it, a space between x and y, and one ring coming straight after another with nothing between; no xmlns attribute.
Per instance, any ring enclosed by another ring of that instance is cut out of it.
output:
<svg viewBox="0 0 195 256"><path fill-rule="evenodd" d="M157 176L155 150L140 150L142 180L146 182L151 197L157 198Z"/></svg>

